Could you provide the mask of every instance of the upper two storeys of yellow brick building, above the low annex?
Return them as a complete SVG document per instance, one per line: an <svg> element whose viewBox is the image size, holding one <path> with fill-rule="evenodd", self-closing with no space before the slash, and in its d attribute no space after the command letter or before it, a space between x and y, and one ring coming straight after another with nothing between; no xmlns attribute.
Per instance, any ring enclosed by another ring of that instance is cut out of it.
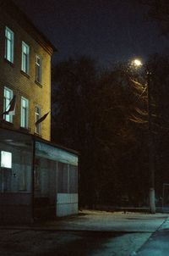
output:
<svg viewBox="0 0 169 256"><path fill-rule="evenodd" d="M15 114L1 126L51 139L51 56L54 47L11 1L0 1L0 111L15 96ZM45 122L36 120L49 113Z"/></svg>

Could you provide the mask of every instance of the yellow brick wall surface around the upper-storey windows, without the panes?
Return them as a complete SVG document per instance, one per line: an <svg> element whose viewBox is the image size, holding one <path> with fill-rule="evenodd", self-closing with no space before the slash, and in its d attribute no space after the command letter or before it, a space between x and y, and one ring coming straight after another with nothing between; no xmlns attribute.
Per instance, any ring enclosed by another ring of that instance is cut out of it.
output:
<svg viewBox="0 0 169 256"><path fill-rule="evenodd" d="M4 59L5 26L14 31L14 64ZM21 72L22 41L30 46L30 73ZM35 83L35 55L41 57L41 86ZM0 125L20 130L20 99L29 100L29 131L35 133L35 105L41 108L41 116L51 110L51 54L47 53L29 33L8 14L0 12L0 113L3 112L3 87L14 91L17 98L14 125L0 121ZM41 123L41 137L50 141L51 114Z"/></svg>

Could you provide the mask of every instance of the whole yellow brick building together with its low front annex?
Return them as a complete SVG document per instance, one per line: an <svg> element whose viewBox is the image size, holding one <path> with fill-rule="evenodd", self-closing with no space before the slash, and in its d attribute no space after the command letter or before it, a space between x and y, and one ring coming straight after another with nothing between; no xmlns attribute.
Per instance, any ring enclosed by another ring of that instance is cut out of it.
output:
<svg viewBox="0 0 169 256"><path fill-rule="evenodd" d="M0 0L0 222L78 213L78 153L51 139L55 47Z"/></svg>

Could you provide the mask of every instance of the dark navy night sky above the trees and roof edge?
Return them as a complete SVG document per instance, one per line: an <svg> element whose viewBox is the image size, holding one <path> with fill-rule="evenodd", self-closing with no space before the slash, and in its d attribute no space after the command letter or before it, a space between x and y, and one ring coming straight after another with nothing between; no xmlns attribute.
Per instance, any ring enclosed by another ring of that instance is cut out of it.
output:
<svg viewBox="0 0 169 256"><path fill-rule="evenodd" d="M14 0L54 44L53 61L86 54L103 65L163 53L161 36L146 9L131 0Z"/></svg>

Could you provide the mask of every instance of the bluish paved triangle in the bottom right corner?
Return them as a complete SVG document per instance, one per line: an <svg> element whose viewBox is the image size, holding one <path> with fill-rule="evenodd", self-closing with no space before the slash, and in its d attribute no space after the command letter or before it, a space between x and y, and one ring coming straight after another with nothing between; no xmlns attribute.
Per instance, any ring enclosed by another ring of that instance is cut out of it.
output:
<svg viewBox="0 0 169 256"><path fill-rule="evenodd" d="M139 248L137 256L169 255L169 218L159 227L144 245Z"/></svg>

